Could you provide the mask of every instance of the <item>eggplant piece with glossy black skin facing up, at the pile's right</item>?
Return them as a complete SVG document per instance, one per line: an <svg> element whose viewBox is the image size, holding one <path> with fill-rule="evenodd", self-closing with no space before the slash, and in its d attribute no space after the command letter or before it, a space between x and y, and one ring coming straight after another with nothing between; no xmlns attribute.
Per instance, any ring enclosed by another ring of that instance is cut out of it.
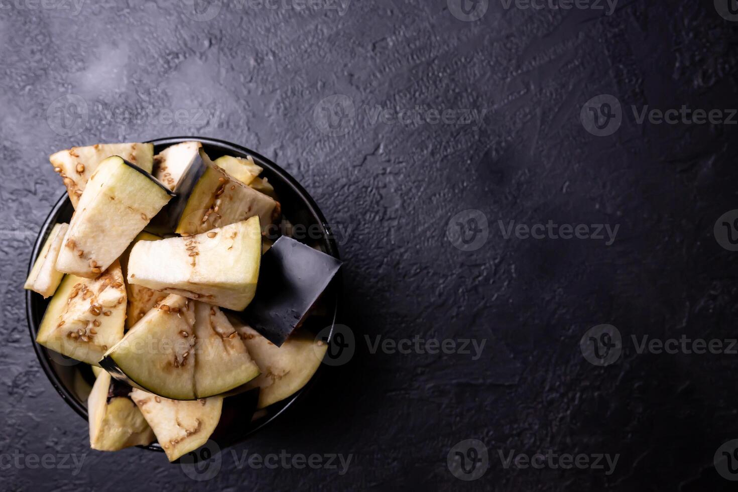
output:
<svg viewBox="0 0 738 492"><path fill-rule="evenodd" d="M280 347L341 264L329 254L282 236L263 254L256 295L241 318Z"/></svg>

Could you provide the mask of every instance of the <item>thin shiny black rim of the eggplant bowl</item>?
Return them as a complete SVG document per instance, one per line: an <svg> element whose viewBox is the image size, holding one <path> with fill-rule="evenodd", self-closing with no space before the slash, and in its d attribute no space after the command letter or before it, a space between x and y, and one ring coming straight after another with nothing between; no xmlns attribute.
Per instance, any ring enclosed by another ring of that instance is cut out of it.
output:
<svg viewBox="0 0 738 492"><path fill-rule="evenodd" d="M334 236L331 234L331 232L327 229L328 222L325 219L325 215L323 215L323 212L320 210L320 208L317 206L316 202L314 201L314 198L311 197L311 195L308 194L308 192L303 188L303 186L297 182L294 177L292 177L289 173L286 172L286 170L283 170L282 167L275 164L275 162L272 162L271 159L268 159L264 156L262 156L260 153L257 153L249 148L244 147L243 145L237 145L232 142L227 142L226 140L221 139L215 139L210 137L203 137L203 136L170 136L170 137L164 137L159 139L153 139L148 140L145 143L151 143L153 145L174 145L181 142L190 142L190 141L196 141L201 142L204 145L210 145L219 149L224 150L224 154L227 155L227 151L230 150L233 153L236 154L247 154L249 156L252 156L257 162L257 164L262 165L262 167L266 167L269 169L270 173L273 173L283 181L284 184L288 185L289 188L291 188L293 193L296 193L300 199L303 201L303 203L306 205L308 211L311 213L311 215L317 219L318 224L320 224L320 229L322 233L322 240L323 245L326 248L326 252L328 254L331 254L331 256L336 257L337 259L340 259L339 251L338 251L338 244ZM41 225L41 229L38 232L38 237L35 240L29 266L28 266L28 274L30 274L31 269L33 268L33 263L35 263L36 258L38 257L39 252L41 251L41 248L44 246L44 240L46 239L46 233L49 232L50 227L53 225L52 222L55 224L56 218L59 214L60 209L66 205L67 201L69 201L69 196L66 193L66 190L64 191L63 195L58 199L54 207L52 207L51 211L49 212L49 215L46 217L46 220L44 221L44 224ZM331 330L329 330L328 333L328 339L326 342L330 343L331 339L333 337L333 332L335 329L335 326L337 325L337 319L339 318L339 305L340 305L340 293L342 291L342 272L338 271L336 276L334 277L334 280L332 281L332 284L334 285L334 288L336 289L336 296L334 299L334 307L333 307L333 315L331 318ZM79 401L77 401L77 398L72 397L72 393L69 391L69 389L66 388L66 385L63 384L61 381L61 378L59 377L58 373L52 367L52 365L49 362L49 358L46 355L47 349L45 347L42 347L40 344L36 343L35 341L35 334L38 333L38 325L40 325L41 320L35 319L36 316L32 311L32 304L33 300L32 297L35 293L32 291L26 291L26 320L28 324L28 330L31 337L31 344L33 345L33 350L36 354L36 358L38 358L39 363L41 364L41 368L44 370L44 373L46 374L46 378L49 379L49 382L52 384L52 387L56 389L58 394L61 396L62 400L66 402L67 405L69 405L75 412L77 412L80 417L83 417L84 420L89 420L88 412L86 406L83 406ZM38 294L36 294L38 295ZM41 316L43 318L43 316ZM331 317L329 315L329 317ZM35 327L34 327L35 325ZM323 364L320 364L315 371L315 373L312 375L310 380L297 390L293 395L291 395L289 398L286 398L284 401L281 401L279 403L276 403L277 405L280 405L280 408L277 409L272 414L267 414L265 418L263 418L263 422L259 422L258 419L255 420L258 422L258 425L253 426L251 429L249 429L248 432L243 434L241 436L241 441L246 439L246 437L251 436L252 434L255 434L256 432L263 429L265 426L267 426L269 423L272 423L277 417L282 415L286 410L294 404L295 401L297 401L298 398L300 398L301 395L305 394L315 383L317 378L320 377L320 374L323 373ZM239 442L241 442L239 441ZM150 444L148 446L137 446L138 448L146 448L150 449L152 451L164 451L158 444Z"/></svg>

